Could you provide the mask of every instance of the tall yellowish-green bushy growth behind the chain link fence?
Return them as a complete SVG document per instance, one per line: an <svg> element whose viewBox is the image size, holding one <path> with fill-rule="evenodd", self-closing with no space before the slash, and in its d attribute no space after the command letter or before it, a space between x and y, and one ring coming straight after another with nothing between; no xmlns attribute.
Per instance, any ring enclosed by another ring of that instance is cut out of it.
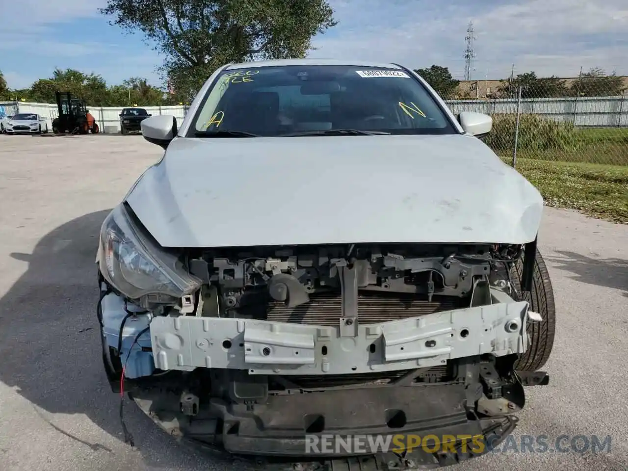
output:
<svg viewBox="0 0 628 471"><path fill-rule="evenodd" d="M493 117L493 129L485 138L496 153L511 153L514 148L514 133L517 117L512 114ZM534 114L519 117L517 151L563 151L573 152L580 145L578 131L571 122L543 119Z"/></svg>

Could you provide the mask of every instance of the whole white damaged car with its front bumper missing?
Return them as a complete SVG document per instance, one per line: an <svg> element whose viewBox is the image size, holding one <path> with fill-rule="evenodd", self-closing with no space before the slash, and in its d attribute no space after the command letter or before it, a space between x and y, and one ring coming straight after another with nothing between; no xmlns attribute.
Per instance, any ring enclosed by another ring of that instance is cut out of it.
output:
<svg viewBox="0 0 628 471"><path fill-rule="evenodd" d="M491 126L408 68L333 60L225 65L180 127L144 120L165 154L97 254L112 389L258 465L489 451L547 384L555 332L543 198L479 139ZM311 447L398 434L414 449Z"/></svg>

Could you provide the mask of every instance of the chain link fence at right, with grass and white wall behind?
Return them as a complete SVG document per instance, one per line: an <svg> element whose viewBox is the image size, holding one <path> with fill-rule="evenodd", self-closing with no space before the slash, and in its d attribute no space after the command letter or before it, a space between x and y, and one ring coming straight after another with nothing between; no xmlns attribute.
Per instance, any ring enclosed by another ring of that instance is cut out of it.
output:
<svg viewBox="0 0 628 471"><path fill-rule="evenodd" d="M628 87L622 77L505 82L486 99L448 100L452 111L493 117L485 139L502 158L628 166Z"/></svg>

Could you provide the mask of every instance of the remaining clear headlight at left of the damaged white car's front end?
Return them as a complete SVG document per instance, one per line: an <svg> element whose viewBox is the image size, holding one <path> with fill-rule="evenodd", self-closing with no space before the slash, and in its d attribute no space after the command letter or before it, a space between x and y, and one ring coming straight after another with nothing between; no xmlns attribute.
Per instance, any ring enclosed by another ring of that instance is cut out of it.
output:
<svg viewBox="0 0 628 471"><path fill-rule="evenodd" d="M175 254L134 224L122 204L102 223L99 264L107 282L131 300L173 304L201 284Z"/></svg>

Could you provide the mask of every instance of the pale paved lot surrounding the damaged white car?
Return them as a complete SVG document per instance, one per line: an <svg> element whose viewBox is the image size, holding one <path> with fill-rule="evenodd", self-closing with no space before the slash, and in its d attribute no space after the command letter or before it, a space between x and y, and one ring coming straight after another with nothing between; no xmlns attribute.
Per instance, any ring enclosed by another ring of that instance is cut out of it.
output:
<svg viewBox="0 0 628 471"><path fill-rule="evenodd" d="M234 469L183 448L119 397L100 357L100 224L162 154L141 136L0 136L0 468ZM193 169L190 169L193 171ZM549 386L530 387L516 436L612 436L610 453L494 453L460 470L628 469L628 225L547 208L555 289Z"/></svg>

